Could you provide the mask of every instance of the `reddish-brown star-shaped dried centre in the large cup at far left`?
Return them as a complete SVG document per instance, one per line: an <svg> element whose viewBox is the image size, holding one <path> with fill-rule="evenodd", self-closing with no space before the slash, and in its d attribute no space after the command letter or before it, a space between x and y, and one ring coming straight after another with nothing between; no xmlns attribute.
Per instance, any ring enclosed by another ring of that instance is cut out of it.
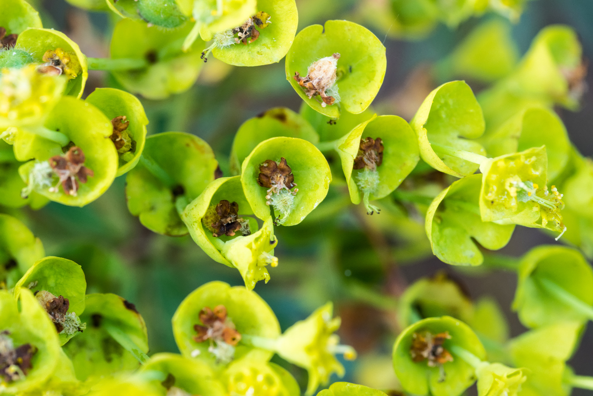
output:
<svg viewBox="0 0 593 396"><path fill-rule="evenodd" d="M76 197L78 193L78 182L86 183L88 176L94 176L94 172L84 166L84 153L80 147L71 147L63 156L53 156L49 160L53 172L60 178L65 194ZM51 187L50 192L58 192L58 186Z"/></svg>

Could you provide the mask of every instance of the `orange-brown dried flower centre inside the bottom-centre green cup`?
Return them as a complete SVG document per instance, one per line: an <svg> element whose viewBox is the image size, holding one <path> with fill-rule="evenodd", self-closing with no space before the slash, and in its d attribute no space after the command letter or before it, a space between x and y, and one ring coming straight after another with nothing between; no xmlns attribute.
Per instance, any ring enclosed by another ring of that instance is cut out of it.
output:
<svg viewBox="0 0 593 396"><path fill-rule="evenodd" d="M237 345L241 340L241 334L235 329L235 324L227 316L227 308L218 305L213 310L206 306L199 313L202 325L194 325L197 335L193 336L196 343L203 343L206 340L215 343L226 343L232 346Z"/></svg>

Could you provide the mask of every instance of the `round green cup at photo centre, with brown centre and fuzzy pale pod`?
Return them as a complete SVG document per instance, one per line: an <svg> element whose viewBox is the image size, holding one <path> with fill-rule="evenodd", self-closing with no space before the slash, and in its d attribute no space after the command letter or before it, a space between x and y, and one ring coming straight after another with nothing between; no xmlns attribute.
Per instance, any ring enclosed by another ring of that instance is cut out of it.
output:
<svg viewBox="0 0 593 396"><path fill-rule="evenodd" d="M253 213L266 220L272 206L275 223L284 226L300 223L313 211L326 197L330 182L323 154L298 138L264 140L243 161L241 172L243 191Z"/></svg>

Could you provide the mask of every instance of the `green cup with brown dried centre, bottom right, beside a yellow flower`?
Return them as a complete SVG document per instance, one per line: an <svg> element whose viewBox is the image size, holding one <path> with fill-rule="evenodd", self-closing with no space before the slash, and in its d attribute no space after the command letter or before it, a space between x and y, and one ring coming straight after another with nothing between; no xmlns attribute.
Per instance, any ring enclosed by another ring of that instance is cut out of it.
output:
<svg viewBox="0 0 593 396"><path fill-rule="evenodd" d="M426 354L429 346L435 349ZM393 346L393 367L404 390L416 395L462 394L476 380L475 370L464 359L451 356L455 346L480 360L486 356L471 328L450 316L423 319L402 331Z"/></svg>

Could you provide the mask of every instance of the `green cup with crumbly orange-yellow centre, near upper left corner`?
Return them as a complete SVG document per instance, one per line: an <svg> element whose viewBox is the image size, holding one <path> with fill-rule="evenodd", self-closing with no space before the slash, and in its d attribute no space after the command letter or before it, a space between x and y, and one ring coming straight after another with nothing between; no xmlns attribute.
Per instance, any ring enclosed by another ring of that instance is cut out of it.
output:
<svg viewBox="0 0 593 396"><path fill-rule="evenodd" d="M65 75L66 95L82 96L88 78L87 57L65 34L53 29L30 28L18 35L17 46L27 49L38 61L46 62L39 71Z"/></svg>

